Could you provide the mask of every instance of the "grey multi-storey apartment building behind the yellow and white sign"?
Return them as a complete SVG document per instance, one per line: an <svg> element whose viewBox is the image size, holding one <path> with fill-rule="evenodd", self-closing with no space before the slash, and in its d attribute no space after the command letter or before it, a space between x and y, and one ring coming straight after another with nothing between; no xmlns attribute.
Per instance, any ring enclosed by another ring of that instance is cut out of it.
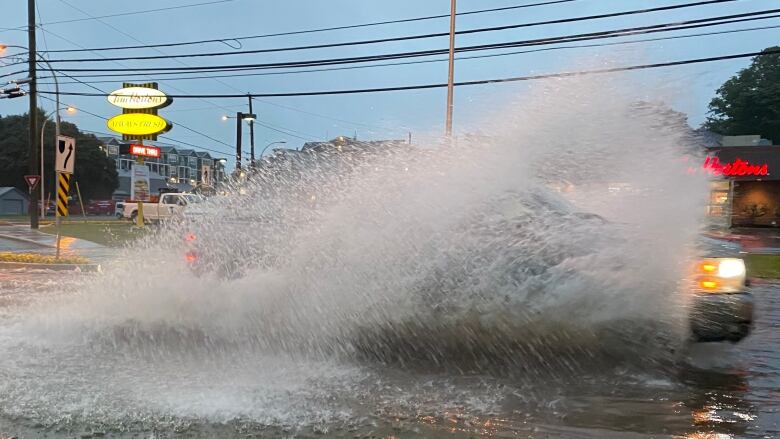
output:
<svg viewBox="0 0 780 439"><path fill-rule="evenodd" d="M119 187L114 191L115 200L130 197L130 180L136 157L124 154L130 143L114 137L101 137L106 155L114 159ZM150 193L156 194L160 189L170 188L183 192L197 191L202 188L213 188L226 178L226 160L213 157L206 151L160 146L159 158L145 158L144 164L149 167ZM205 175L204 175L205 171ZM210 175L209 175L210 173ZM205 177L205 178L204 178Z"/></svg>

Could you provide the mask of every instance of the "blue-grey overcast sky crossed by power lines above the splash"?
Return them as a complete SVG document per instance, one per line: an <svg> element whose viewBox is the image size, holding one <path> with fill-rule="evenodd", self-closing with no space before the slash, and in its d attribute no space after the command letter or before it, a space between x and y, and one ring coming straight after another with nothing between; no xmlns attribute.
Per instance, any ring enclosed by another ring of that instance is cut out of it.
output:
<svg viewBox="0 0 780 439"><path fill-rule="evenodd" d="M158 11L123 17L88 19L67 23L66 20L99 17L116 13L143 11L209 0L38 0L44 31L39 31L40 49L71 49L78 46L95 48L193 41L213 38L231 38L289 32L331 26L396 20L449 12L449 0L233 0L169 11ZM544 0L459 0L459 12L537 3ZM67 2L67 3L66 3ZM540 20L576 17L689 3L693 0L578 0L558 5L547 5L503 12L466 15L458 18L458 30L500 26ZM5 0L3 19L0 21L0 42L27 45L26 34L20 30L7 30L24 26L27 22L26 1ZM82 11L79 11L75 6ZM630 17L592 20L580 23L547 25L533 28L486 32L459 36L458 46L496 43L502 41L551 37L571 33L584 33L624 27L644 26L686 19L705 18L777 8L776 0L741 0L716 5L693 7L668 12L657 12ZM650 37L682 35L686 33L712 32L758 26L780 25L780 19L731 24L704 29L654 34ZM418 33L447 32L448 19L391 24L361 29L338 30L294 36L280 36L243 41L243 49L259 49L293 45L321 44L361 39L385 38ZM742 52L759 51L778 44L780 30L767 29L728 35L714 35L689 39L656 41L631 45L598 48L577 48L548 52L526 53L511 56L461 60L456 63L456 80L479 80L530 74L553 73L576 69L583 60L606 57L616 60L616 65L675 61ZM644 38L647 38L645 36ZM627 41L643 37L611 39ZM255 54L228 57L184 59L189 65L214 65L233 63L264 63L329 57L351 57L399 51L439 49L447 47L447 38L431 38L417 41L374 44L331 49L316 49L277 54ZM10 53L13 49L8 49ZM222 43L210 43L182 48L159 49L163 54L198 53L231 50ZM513 49L518 50L518 49ZM506 50L505 50L506 51ZM482 54L483 52L480 52ZM500 53L500 51L489 52ZM50 54L50 58L97 57L99 55L159 55L151 49L78 54ZM476 54L476 53L475 53ZM468 54L469 56L473 54ZM441 58L441 57L435 57ZM6 60L8 61L8 60ZM692 125L700 124L706 115L707 103L718 86L749 64L749 59L688 65L657 69L641 73L619 73L636 81L637 88L652 91L668 84L678 84L684 92L677 93L670 102L676 109L687 113ZM61 65L60 65L61 66ZM72 64L71 67L77 67ZM99 67L129 66L181 66L175 61L123 61L100 63ZM19 70L24 66L0 68L0 74ZM83 67L83 65L78 66ZM337 70L285 75L265 75L242 78L161 80L160 88L171 94L188 93L246 93L310 91L340 88L389 87L445 82L447 63L378 67L354 70ZM8 78L5 78L8 79ZM4 80L5 80L4 79ZM138 82L146 78L133 78ZM90 80L105 80L91 78ZM113 79L109 78L113 81ZM63 91L94 92L94 89L72 83L62 77ZM85 79L87 81L87 79ZM49 80L42 80L48 83ZM111 91L121 86L121 81L95 83L101 90ZM477 124L486 108L501 105L507 96L522 93L528 83L492 84L460 87L455 93L455 131L468 132ZM53 89L51 85L42 86ZM265 98L255 104L255 113L268 127L256 127L257 148L269 142L285 140L290 147L299 147L305 140L324 140L336 135L354 135L359 138L405 138L408 132L416 138L441 133L444 125L444 89L360 94L344 96ZM99 97L63 97L63 104L72 104L103 117L117 113L117 108ZM27 110L26 99L0 101L0 114L19 114ZM47 110L54 105L46 100L41 106ZM228 155L235 142L235 125L223 122L223 114L246 110L246 99L178 99L160 114L174 123L188 126L224 144L200 134L176 126L170 136L185 142L202 145ZM80 128L107 132L105 121L80 112L67 116ZM226 145L225 145L226 144Z"/></svg>

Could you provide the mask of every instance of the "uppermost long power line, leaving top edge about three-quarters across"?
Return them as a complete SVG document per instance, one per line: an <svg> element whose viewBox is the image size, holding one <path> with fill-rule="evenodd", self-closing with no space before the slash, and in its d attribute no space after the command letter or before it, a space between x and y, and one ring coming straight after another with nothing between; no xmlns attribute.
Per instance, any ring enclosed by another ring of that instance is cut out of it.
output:
<svg viewBox="0 0 780 439"><path fill-rule="evenodd" d="M578 0L552 0L552 1L544 1L544 2L538 2L538 3L524 4L524 5L505 6L505 7L501 7L501 8L480 9L480 10L475 10L475 11L459 12L456 15L463 16L463 15L482 14L482 13L488 13L488 12L500 12L500 11L508 11L508 10L513 10L513 9L532 8L532 7L536 7L536 6L546 6L546 5L553 5L553 4L560 4L560 3L571 3L571 2L575 2L575 1L578 1ZM425 20L433 20L433 19L439 19L439 18L449 18L449 16L450 16L450 14L430 15L430 16L425 16L425 17L404 18L404 19L399 19L399 20L386 20L386 21L378 21L378 22L373 22L373 23L352 24L352 25L346 25L346 26L334 26L334 27L307 29L307 30L299 30L299 31L289 31L289 32L281 32L281 33L273 33L273 34L250 35L250 36L244 36L244 37L226 37L226 38L218 38L218 39L211 39L211 40L199 40L199 41L189 41L189 42L181 42L181 43L162 43L162 44L141 45L141 46L98 47L98 48L92 48L92 49L51 50L51 51L49 51L49 53L104 51L104 50L148 49L148 48L155 48L155 47L178 47L178 46L188 46L188 45L206 44L206 43L223 43L223 44L227 44L228 41L236 41L236 42L239 42L239 44L241 44L240 42L241 41L245 41L245 40L269 38L269 37L279 37L279 36L290 36L290 35L301 35L301 34L308 34L308 33L327 32L327 31L344 30L344 29L357 29L357 28L362 28L362 27L381 26L381 25L387 25L387 24L410 23L410 22L415 22L415 21L425 21Z"/></svg>

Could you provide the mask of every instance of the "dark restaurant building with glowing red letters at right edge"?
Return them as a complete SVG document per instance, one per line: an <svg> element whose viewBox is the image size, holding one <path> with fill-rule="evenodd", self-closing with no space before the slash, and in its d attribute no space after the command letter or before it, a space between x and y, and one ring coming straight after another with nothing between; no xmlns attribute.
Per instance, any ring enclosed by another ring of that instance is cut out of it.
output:
<svg viewBox="0 0 780 439"><path fill-rule="evenodd" d="M707 146L713 177L708 214L732 227L780 226L780 146L761 136L723 136Z"/></svg>

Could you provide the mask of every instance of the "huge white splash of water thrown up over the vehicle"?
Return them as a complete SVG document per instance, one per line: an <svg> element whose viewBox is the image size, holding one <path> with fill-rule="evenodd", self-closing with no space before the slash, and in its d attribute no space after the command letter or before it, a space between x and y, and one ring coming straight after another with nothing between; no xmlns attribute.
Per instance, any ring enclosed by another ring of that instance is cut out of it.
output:
<svg viewBox="0 0 780 439"><path fill-rule="evenodd" d="M456 147L277 161L75 291L6 309L0 413L346 425L497 403L409 376L391 392L388 370L531 383L661 367L684 337L705 181L679 166L695 145L677 119L602 81L540 83ZM400 403L420 389L436 396Z"/></svg>

